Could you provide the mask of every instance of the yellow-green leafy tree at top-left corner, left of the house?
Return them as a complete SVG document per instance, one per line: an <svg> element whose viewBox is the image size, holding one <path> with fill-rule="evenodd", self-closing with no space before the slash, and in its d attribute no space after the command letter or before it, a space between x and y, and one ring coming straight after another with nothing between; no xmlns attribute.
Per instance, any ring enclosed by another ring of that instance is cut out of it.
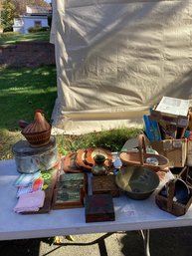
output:
<svg viewBox="0 0 192 256"><path fill-rule="evenodd" d="M12 31L13 19L16 15L15 5L12 0L4 0L1 11L2 25L4 31Z"/></svg>

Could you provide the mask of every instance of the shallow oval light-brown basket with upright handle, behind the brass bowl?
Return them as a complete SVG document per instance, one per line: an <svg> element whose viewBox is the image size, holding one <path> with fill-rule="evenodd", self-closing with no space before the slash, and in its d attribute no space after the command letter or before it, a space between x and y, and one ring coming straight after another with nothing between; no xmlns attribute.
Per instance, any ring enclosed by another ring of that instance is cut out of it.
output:
<svg viewBox="0 0 192 256"><path fill-rule="evenodd" d="M161 154L154 154L154 153L147 153L146 152L146 145L145 145L145 138L143 134L139 134L138 136L139 141L139 149L138 151L122 151L119 154L119 158L122 161L123 165L142 165L145 167L150 167L156 171L164 170L169 163L167 157ZM146 163L147 158L156 158L158 160L158 165Z"/></svg>

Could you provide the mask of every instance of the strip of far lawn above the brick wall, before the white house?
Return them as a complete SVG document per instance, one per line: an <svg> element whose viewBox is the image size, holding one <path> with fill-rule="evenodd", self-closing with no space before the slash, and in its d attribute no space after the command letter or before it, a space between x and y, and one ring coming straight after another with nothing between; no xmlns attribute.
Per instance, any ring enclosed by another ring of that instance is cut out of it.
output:
<svg viewBox="0 0 192 256"><path fill-rule="evenodd" d="M30 34L3 33L0 35L0 45L16 44L27 41L50 41L50 31L42 31Z"/></svg>

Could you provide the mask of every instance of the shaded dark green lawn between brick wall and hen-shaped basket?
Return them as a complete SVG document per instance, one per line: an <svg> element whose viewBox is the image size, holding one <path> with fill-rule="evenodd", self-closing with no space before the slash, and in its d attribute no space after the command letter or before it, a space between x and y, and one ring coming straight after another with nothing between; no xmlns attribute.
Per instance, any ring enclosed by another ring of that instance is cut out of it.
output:
<svg viewBox="0 0 192 256"><path fill-rule="evenodd" d="M0 128L17 130L18 121L31 122L36 109L49 120L56 97L55 66L0 70Z"/></svg>

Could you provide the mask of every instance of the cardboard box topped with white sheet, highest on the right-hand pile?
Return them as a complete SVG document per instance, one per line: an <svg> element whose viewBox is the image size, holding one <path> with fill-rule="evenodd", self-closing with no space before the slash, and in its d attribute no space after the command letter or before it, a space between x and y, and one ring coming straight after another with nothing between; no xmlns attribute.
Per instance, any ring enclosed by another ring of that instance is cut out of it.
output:
<svg viewBox="0 0 192 256"><path fill-rule="evenodd" d="M163 97L150 113L151 120L164 121L179 128L187 128L189 123L189 100Z"/></svg>

